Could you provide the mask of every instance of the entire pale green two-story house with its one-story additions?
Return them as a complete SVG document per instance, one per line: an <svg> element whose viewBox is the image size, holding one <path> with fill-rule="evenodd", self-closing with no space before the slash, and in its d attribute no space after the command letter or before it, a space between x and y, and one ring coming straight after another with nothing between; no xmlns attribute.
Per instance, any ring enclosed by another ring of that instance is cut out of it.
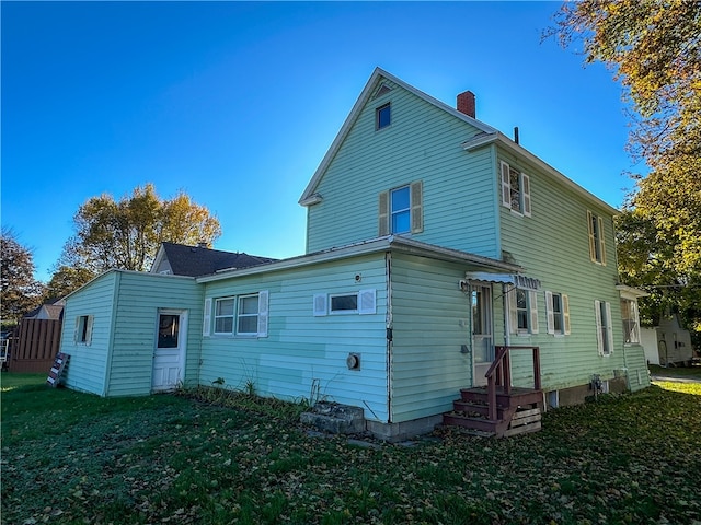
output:
<svg viewBox="0 0 701 525"><path fill-rule="evenodd" d="M66 384L326 399L388 440L473 424L485 385L498 434L519 407L648 386L617 210L478 120L471 92L451 107L376 69L299 202L304 255L195 277L157 260L70 295Z"/></svg>

